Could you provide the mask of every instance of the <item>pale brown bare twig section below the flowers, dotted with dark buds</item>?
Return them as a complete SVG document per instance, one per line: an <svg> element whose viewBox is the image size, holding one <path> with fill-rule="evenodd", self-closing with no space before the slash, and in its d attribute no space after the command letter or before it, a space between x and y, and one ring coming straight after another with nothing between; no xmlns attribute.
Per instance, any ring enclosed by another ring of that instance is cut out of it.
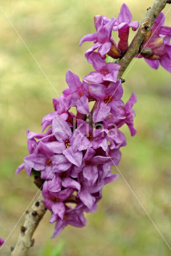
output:
<svg viewBox="0 0 171 256"><path fill-rule="evenodd" d="M11 248L11 256L25 256L28 249L34 245L32 235L47 210L42 202L43 200L44 198L42 194L40 194L36 202L32 205L31 210L26 212L24 226L20 228L20 235L15 248Z"/></svg>

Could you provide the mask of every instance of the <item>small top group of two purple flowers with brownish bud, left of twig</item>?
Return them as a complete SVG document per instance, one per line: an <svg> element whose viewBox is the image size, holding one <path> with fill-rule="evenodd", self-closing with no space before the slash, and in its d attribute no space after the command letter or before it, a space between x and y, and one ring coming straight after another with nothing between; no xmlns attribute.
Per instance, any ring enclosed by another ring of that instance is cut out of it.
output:
<svg viewBox="0 0 171 256"><path fill-rule="evenodd" d="M132 14L126 4L122 4L118 18L107 18L104 15L96 15L94 24L96 33L87 34L80 40L80 45L85 41L94 41L94 45L85 52L85 58L89 62L89 55L98 48L98 54L105 58L106 54L112 58L119 58L128 48L129 28L133 31L139 27L138 21L131 22ZM118 31L119 43L117 44L111 32Z"/></svg>

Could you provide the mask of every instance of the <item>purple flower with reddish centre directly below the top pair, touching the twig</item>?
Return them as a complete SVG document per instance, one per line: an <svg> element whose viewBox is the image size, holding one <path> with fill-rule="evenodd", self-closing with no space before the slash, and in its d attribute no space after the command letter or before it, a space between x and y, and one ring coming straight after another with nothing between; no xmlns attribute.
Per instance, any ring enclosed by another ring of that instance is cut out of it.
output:
<svg viewBox="0 0 171 256"><path fill-rule="evenodd" d="M93 65L97 71L84 76L84 80L88 82L101 84L105 81L116 82L119 68L121 67L116 63L106 63L97 52L92 52L87 61Z"/></svg>

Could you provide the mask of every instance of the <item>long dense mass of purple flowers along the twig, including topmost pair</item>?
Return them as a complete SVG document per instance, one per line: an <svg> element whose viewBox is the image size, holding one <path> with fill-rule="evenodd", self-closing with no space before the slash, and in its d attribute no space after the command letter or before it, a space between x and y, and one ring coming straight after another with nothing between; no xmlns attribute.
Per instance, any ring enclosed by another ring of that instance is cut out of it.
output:
<svg viewBox="0 0 171 256"><path fill-rule="evenodd" d="M26 131L29 155L16 174L24 168L29 176L34 174L44 204L52 211L50 223L56 222L53 238L68 224L85 226L84 212L97 209L103 186L118 177L111 173L111 166L119 164L120 148L126 145L119 128L127 124L131 135L136 134L132 108L137 101L135 93L124 104L121 79L117 79L120 66L105 61L105 54L113 45L111 30L119 30L118 52L127 50L129 27L138 27L137 22L130 21L125 4L118 19L95 17L97 33L82 39L95 40L94 47L86 52L95 71L85 75L81 82L68 70L69 88L63 91L63 96L53 98L54 112L42 119L42 133ZM90 113L92 101L95 104ZM74 106L76 114L70 111Z"/></svg>

